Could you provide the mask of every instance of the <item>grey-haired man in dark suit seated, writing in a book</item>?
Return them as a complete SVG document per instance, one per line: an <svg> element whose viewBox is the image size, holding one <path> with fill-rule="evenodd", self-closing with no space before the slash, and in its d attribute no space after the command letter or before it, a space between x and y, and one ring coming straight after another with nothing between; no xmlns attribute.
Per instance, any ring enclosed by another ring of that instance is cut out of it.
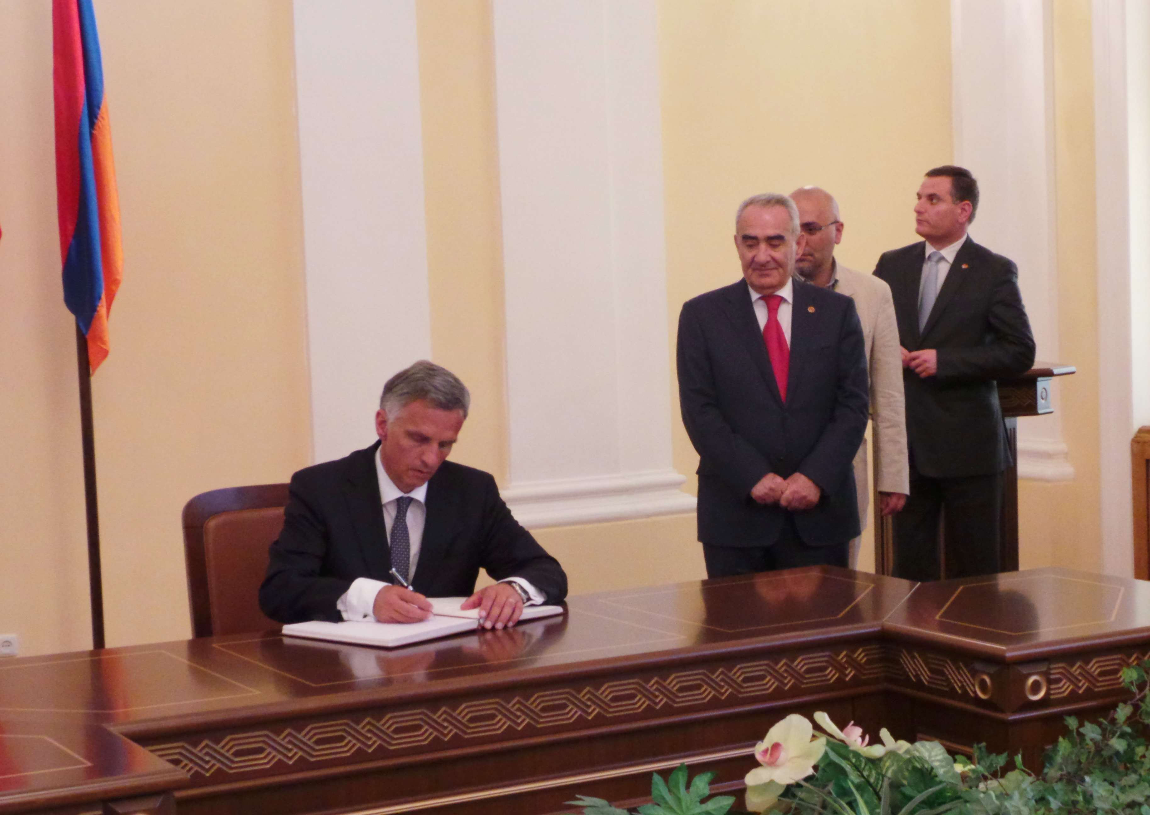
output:
<svg viewBox="0 0 1150 815"><path fill-rule="evenodd" d="M454 374L416 362L384 385L378 443L292 476L260 586L266 615L411 623L430 616L428 597L469 595L463 608L501 629L524 603L567 595L562 567L512 517L494 479L445 461L469 403ZM499 583L476 592L481 568Z"/></svg>

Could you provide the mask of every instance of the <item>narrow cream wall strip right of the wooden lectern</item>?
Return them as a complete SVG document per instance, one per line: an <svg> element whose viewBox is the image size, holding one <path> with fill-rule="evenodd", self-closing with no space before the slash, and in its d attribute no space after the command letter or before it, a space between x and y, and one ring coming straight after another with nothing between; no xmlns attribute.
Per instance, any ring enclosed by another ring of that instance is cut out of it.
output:
<svg viewBox="0 0 1150 815"><path fill-rule="evenodd" d="M1053 9L1059 347L1078 372L1057 380L1074 480L1019 483L1019 564L1099 571L1097 231L1090 0ZM1030 420L1030 421L1042 421Z"/></svg>

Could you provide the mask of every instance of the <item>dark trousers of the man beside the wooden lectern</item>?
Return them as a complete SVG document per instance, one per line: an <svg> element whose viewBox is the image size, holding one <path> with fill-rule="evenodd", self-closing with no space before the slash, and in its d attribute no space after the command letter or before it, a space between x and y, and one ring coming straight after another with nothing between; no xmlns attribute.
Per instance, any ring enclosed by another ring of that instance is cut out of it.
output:
<svg viewBox="0 0 1150 815"><path fill-rule="evenodd" d="M895 516L895 577L937 581L938 514L946 526L946 577L998 571L1002 474L929 478L911 456L911 494Z"/></svg>

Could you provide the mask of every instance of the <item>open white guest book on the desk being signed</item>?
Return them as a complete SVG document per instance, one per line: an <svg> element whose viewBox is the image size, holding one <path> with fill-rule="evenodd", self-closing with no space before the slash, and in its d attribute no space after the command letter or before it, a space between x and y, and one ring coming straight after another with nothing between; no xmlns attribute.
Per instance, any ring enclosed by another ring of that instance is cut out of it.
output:
<svg viewBox="0 0 1150 815"><path fill-rule="evenodd" d="M480 624L480 609L462 609L460 606L467 598L434 597L431 601L434 615L421 623L377 623L374 621L345 621L342 623L292 623L283 626L284 637L304 637L306 639L327 639L332 643L352 643L354 645L376 645L394 648L400 645L422 643L428 639L450 637L453 633L474 631ZM562 606L526 606L519 618L520 623L538 617L551 617L562 614Z"/></svg>

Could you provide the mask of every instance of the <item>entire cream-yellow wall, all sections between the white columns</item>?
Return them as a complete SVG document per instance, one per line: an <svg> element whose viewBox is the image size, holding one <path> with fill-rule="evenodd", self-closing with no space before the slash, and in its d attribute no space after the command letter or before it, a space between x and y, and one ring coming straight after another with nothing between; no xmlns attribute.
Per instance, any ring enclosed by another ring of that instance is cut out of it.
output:
<svg viewBox="0 0 1150 815"><path fill-rule="evenodd" d="M1097 562L1082 545L1098 525L1097 326L1092 302L1065 307L1094 291L1089 5L1055 5L1060 341L1080 367L1061 410L1078 477L1021 485L1023 566ZM475 395L455 459L504 480L490 6L416 8L432 348ZM290 5L98 0L97 14L126 257L94 387L108 638L122 645L189 633L190 495L308 463L306 326ZM846 222L839 257L859 269L914 239L921 172L951 156L945 2L664 0L659 26L672 347L680 305L737 278L731 218L749 194L831 190ZM48 7L0 0L0 154L20 157L0 163L0 631L21 633L24 653L89 643L49 77ZM669 403L675 466L691 475L674 393ZM576 593L704 574L691 515L537 537Z"/></svg>

